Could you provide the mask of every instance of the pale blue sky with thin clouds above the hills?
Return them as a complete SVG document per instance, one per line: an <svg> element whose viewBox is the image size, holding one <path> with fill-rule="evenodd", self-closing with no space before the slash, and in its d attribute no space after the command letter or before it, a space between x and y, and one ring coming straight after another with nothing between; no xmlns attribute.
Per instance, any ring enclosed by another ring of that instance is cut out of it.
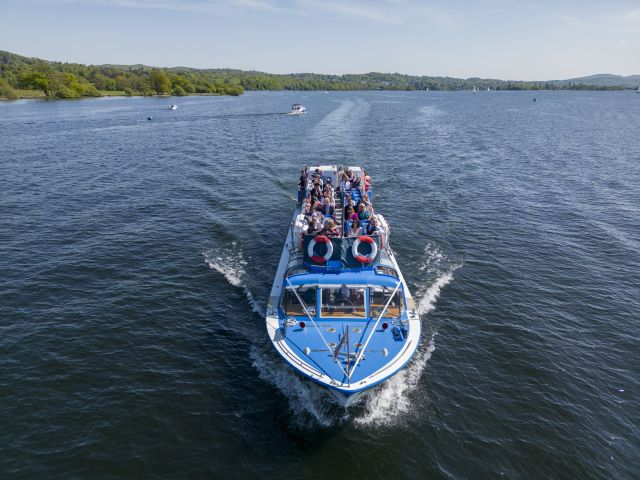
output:
<svg viewBox="0 0 640 480"><path fill-rule="evenodd" d="M640 74L640 0L0 0L0 50L86 64Z"/></svg>

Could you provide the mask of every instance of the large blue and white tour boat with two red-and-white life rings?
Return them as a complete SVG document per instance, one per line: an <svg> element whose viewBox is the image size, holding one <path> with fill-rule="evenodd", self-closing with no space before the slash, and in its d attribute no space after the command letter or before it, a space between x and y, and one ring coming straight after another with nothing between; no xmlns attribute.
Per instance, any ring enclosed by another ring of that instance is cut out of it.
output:
<svg viewBox="0 0 640 480"><path fill-rule="evenodd" d="M347 171L364 185L360 167ZM332 185L343 173L329 165L307 167L304 175L310 172ZM346 407L409 362L420 340L420 317L389 246L384 217L375 215L376 234L345 234L349 222L343 222L343 205L365 192L347 187L335 193L333 218L340 235L309 235L302 199L310 179L301 184L301 202L269 296L267 332L296 372L330 390Z"/></svg>

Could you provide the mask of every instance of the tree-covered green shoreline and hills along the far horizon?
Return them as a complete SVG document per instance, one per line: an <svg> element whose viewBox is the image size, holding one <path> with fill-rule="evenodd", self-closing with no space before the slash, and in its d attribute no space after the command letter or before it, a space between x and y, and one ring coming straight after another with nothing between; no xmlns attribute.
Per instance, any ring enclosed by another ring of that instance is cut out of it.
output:
<svg viewBox="0 0 640 480"><path fill-rule="evenodd" d="M227 68L82 65L0 51L0 97L73 98L100 95L241 95L244 90L616 90L637 88L640 76L515 81L370 72L272 74ZM30 93L31 92L31 93Z"/></svg>

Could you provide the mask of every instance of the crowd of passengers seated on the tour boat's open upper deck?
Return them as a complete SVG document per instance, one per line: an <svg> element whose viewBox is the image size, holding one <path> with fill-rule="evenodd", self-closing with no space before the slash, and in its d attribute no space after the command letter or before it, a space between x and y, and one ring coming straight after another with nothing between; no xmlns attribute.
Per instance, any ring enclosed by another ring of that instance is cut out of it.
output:
<svg viewBox="0 0 640 480"><path fill-rule="evenodd" d="M345 237L359 237L360 235L379 235L382 229L378 226L373 206L369 200L371 190L371 177L364 172L363 180L350 170L340 170L338 178L340 184L338 192L344 193ZM299 195L302 203L302 211L305 215L309 227L307 234L326 235L328 237L342 236L342 229L336 224L336 205L334 201L335 192L331 184L331 177L323 176L320 169L316 169L311 176L308 171L302 170L299 182L299 192L307 191ZM304 190L303 190L304 189ZM360 200L354 202L351 193L354 189L360 191ZM350 193L351 192L351 193ZM304 198L304 202L302 201ZM363 228L362 222L366 221Z"/></svg>

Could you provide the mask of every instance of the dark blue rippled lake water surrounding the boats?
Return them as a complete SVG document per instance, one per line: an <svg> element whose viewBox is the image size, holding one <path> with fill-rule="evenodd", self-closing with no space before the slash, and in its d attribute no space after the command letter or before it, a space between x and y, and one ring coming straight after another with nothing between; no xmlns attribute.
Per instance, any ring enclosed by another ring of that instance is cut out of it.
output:
<svg viewBox="0 0 640 480"><path fill-rule="evenodd" d="M0 478L638 478L637 97L0 103ZM349 410L262 318L319 162L370 171L425 325Z"/></svg>

